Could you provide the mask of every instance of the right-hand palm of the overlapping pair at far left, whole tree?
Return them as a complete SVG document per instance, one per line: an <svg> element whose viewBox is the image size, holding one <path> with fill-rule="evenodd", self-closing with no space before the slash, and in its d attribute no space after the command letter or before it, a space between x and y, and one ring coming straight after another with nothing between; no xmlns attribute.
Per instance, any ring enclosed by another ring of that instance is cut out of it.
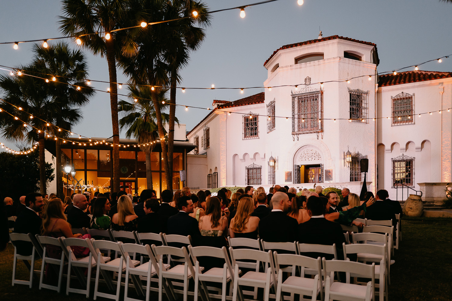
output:
<svg viewBox="0 0 452 301"><path fill-rule="evenodd" d="M69 136L73 126L82 119L81 107L89 103L89 98L95 91L88 86L85 79L88 76L88 66L85 55L80 50L71 50L67 43L49 43L47 48L35 44L34 64L42 68L42 73L52 74L57 81L49 81L49 94L56 102L58 109L53 114L52 124L60 129L54 135L56 139L56 195L62 197L63 171L61 169L61 143ZM80 87L78 90L77 87Z"/></svg>

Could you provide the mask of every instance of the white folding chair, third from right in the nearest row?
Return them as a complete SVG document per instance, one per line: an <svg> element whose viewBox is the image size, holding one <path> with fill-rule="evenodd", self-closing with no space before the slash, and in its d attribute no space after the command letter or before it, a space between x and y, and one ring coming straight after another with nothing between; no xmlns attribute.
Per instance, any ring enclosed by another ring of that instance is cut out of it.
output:
<svg viewBox="0 0 452 301"><path fill-rule="evenodd" d="M262 287L264 288L264 301L268 301L270 297L270 289L276 289L276 276L273 266L273 255L272 251L264 252L253 249L233 249L229 248L229 253L232 259L232 265L234 266L234 287L232 300L237 300L237 294L243 296L242 290L239 287L250 286L250 287ZM249 260L254 259L263 263L268 263L270 268L267 272L246 272L243 276L239 277L239 265L235 262L236 260ZM243 299L249 300L249 299Z"/></svg>

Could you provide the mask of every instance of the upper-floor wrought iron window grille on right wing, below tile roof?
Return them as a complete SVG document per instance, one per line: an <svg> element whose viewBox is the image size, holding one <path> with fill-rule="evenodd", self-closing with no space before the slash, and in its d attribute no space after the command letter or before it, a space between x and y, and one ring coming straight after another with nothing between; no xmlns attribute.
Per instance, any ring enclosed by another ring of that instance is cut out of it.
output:
<svg viewBox="0 0 452 301"><path fill-rule="evenodd" d="M414 93L391 96L391 125L414 124Z"/></svg>

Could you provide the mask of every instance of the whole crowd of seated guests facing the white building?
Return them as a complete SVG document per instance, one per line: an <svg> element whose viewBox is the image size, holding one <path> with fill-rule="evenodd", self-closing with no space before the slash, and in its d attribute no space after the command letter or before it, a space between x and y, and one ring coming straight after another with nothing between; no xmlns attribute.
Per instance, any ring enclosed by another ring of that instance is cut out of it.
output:
<svg viewBox="0 0 452 301"><path fill-rule="evenodd" d="M157 200L154 190L145 189L141 195L125 191L91 195L73 194L64 200L30 193L20 198L17 208L5 198L5 211L17 215L14 232L52 237L81 237L72 229L112 229L144 233L179 234L192 237L193 245L221 247L227 236L268 242L299 241L307 244L336 244L345 242L340 224L362 226L356 218L395 220L402 210L398 201L388 199L386 190L374 198L367 192L364 200L344 189L341 194L322 194L303 190L297 196L295 188L272 187L268 194L263 187L247 186L235 193L221 188L217 196L208 190L192 194L189 187L173 193L164 190ZM32 245L17 246L20 254L31 254ZM339 254L340 252L338 252Z"/></svg>

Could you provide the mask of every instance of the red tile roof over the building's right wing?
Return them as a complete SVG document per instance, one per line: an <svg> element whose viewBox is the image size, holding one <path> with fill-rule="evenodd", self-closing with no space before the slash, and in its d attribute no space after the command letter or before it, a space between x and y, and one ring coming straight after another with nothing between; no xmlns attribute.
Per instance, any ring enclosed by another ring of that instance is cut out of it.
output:
<svg viewBox="0 0 452 301"><path fill-rule="evenodd" d="M393 73L378 76L378 86L394 86L401 84L408 84L417 81L432 81L435 79L452 77L452 72L437 72L437 71L405 71L398 72L397 75Z"/></svg>

